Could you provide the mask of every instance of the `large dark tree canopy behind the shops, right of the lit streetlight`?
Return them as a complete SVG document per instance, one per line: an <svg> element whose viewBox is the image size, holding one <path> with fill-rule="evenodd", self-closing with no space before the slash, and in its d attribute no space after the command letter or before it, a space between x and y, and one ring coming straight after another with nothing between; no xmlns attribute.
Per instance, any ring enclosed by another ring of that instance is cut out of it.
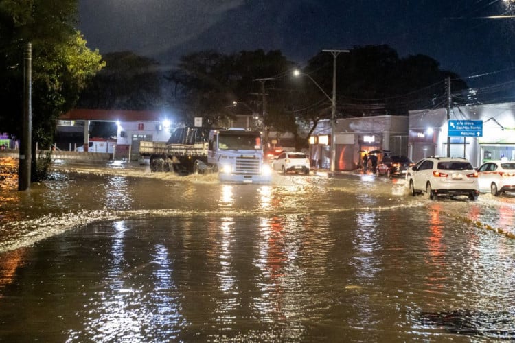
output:
<svg viewBox="0 0 515 343"><path fill-rule="evenodd" d="M453 78L453 91L467 88L466 82L440 69L433 58L399 58L388 45L356 46L348 54L340 54L336 66L338 117L407 115L409 110L443 106L444 80L448 76ZM321 51L309 61L304 73L330 95L332 68L333 56ZM310 80L297 89L302 95L297 108L304 108L299 112L305 121L314 124L314 130L320 119L328 119L330 102Z"/></svg>

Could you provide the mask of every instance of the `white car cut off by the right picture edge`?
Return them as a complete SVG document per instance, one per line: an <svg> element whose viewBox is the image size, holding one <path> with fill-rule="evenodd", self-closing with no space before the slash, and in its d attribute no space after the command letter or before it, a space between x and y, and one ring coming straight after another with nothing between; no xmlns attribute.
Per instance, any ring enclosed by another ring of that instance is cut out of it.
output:
<svg viewBox="0 0 515 343"><path fill-rule="evenodd" d="M490 192L494 196L507 191L515 191L515 161L488 161L477 170L479 191Z"/></svg>

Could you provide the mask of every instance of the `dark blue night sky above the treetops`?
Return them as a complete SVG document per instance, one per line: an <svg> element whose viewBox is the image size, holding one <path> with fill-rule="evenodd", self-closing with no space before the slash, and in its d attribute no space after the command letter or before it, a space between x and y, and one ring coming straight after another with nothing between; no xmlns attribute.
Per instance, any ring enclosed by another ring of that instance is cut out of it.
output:
<svg viewBox="0 0 515 343"><path fill-rule="evenodd" d="M79 0L79 5L78 28L91 49L130 50L164 66L203 49L279 49L302 66L321 49L387 44L400 57L431 56L472 84L515 77L510 18L515 0Z"/></svg>

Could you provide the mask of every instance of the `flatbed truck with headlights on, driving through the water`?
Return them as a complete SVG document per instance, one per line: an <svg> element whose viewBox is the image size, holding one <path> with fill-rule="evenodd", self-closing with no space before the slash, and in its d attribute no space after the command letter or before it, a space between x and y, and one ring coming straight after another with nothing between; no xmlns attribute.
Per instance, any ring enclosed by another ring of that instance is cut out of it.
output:
<svg viewBox="0 0 515 343"><path fill-rule="evenodd" d="M175 130L168 142L140 141L139 154L152 172L218 173L221 182L233 183L266 184L272 177L260 132L242 128Z"/></svg>

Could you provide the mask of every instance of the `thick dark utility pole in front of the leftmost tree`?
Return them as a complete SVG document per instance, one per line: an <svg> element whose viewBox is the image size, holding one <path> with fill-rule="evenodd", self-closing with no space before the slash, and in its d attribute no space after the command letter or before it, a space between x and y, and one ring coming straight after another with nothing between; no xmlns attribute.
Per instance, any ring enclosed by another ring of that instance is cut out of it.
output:
<svg viewBox="0 0 515 343"><path fill-rule="evenodd" d="M32 43L27 43L23 53L23 132L19 153L18 190L30 186L32 162Z"/></svg>

